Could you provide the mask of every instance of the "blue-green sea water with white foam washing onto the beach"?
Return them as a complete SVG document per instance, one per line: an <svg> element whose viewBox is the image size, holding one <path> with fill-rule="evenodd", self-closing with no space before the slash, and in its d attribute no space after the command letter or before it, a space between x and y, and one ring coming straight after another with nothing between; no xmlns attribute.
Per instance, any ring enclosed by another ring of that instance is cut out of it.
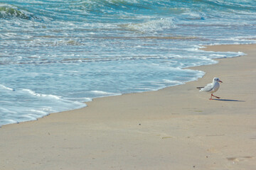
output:
<svg viewBox="0 0 256 170"><path fill-rule="evenodd" d="M250 0L2 0L0 125L196 80L186 67L243 55L201 45L255 43L255 26Z"/></svg>

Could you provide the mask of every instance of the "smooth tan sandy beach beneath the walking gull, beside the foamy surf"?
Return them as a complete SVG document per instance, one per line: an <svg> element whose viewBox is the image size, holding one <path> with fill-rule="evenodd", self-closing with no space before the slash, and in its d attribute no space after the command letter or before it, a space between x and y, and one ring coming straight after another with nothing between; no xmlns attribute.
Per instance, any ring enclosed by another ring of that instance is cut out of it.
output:
<svg viewBox="0 0 256 170"><path fill-rule="evenodd" d="M198 81L4 125L0 169L255 169L256 45L204 50L247 55L193 67ZM196 86L213 77L223 84L210 101Z"/></svg>

